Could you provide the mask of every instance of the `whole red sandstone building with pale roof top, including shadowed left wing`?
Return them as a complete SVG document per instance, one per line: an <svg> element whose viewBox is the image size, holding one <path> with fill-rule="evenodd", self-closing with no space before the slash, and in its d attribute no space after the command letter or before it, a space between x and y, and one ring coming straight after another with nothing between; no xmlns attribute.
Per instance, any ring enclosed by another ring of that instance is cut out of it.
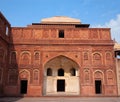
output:
<svg viewBox="0 0 120 102"><path fill-rule="evenodd" d="M57 16L11 27L0 13L1 96L117 96L109 28Z"/></svg>

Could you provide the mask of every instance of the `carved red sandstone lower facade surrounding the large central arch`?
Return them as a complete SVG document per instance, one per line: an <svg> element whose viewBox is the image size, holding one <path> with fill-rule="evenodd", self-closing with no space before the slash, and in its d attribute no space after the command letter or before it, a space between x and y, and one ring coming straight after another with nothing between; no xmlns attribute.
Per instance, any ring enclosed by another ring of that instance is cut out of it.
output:
<svg viewBox="0 0 120 102"><path fill-rule="evenodd" d="M15 52L18 67L15 68ZM66 56L79 65L80 96L95 96L95 80L102 81L102 95L117 95L116 69L112 46L80 46L80 45L15 45L10 49L9 73L19 73L18 80L14 76L11 82L16 82L16 92L20 93L20 80L28 80L28 96L37 90L36 95L43 95L45 64L57 56ZM56 63L55 63L56 64ZM34 74L36 73L36 74ZM15 74L14 74L15 75ZM96 76L96 77L95 77ZM87 78L86 78L87 77ZM8 79L10 80L10 79ZM12 81L13 80L13 81ZM8 86L9 86L8 82ZM10 85L15 85L11 83ZM36 86L36 87L35 87ZM37 89L37 87L39 87ZM46 86L47 87L47 86ZM19 90L18 90L19 89ZM17 91L18 90L18 91Z"/></svg>

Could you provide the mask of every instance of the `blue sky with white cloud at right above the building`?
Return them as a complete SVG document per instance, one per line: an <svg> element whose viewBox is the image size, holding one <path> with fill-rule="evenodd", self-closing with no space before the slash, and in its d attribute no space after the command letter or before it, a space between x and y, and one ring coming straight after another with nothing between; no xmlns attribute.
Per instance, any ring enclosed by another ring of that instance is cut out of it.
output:
<svg viewBox="0 0 120 102"><path fill-rule="evenodd" d="M112 39L120 43L120 0L0 0L0 11L12 26L52 16L77 18L91 27L111 28Z"/></svg>

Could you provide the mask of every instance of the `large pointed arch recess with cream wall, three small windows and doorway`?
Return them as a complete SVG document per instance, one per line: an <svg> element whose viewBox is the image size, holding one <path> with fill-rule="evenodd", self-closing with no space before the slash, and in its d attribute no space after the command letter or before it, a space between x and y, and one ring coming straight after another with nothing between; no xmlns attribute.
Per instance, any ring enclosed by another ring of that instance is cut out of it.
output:
<svg viewBox="0 0 120 102"><path fill-rule="evenodd" d="M44 66L44 95L79 95L79 65L65 56L58 56Z"/></svg>

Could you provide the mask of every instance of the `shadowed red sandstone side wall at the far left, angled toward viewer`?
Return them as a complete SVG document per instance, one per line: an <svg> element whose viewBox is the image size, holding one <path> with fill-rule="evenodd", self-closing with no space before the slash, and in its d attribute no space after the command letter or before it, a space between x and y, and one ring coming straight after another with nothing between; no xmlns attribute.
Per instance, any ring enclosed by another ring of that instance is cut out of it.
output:
<svg viewBox="0 0 120 102"><path fill-rule="evenodd" d="M0 96L4 93L3 89L7 78L9 33L10 24L0 12Z"/></svg>

